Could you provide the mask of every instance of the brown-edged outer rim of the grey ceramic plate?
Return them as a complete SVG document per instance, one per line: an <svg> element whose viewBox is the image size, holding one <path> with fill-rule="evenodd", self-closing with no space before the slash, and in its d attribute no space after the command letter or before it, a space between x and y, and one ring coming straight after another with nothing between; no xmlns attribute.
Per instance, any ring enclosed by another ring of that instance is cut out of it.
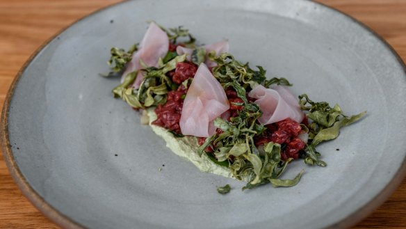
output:
<svg viewBox="0 0 406 229"><path fill-rule="evenodd" d="M301 1L307 1L307 0L301 0ZM13 156L13 150L11 149L11 144L9 140L9 132L8 132L8 111L10 109L10 102L13 99L15 87L17 86L19 79L22 77L22 74L24 74L26 68L32 63L33 59L40 54L40 52L49 45L49 43L58 38L58 35L69 29L71 26L74 26L78 22L81 22L84 19L87 19L88 17L92 17L92 15L96 15L97 13L101 13L104 10L108 10L109 8L112 8L113 6L120 5L122 3L126 3L127 1L120 1L117 3L111 3L108 6L104 6L103 8L99 8L98 10L93 11L92 13L85 15L79 19L76 19L74 22L71 24L65 26L63 29L60 29L57 33L52 35L50 38L48 38L40 47L38 47L33 54L25 61L24 65L19 69L17 72L15 78L13 79L13 82L10 85L10 88L8 89L8 92L6 94L6 98L3 102L3 109L1 111L1 120L0 120L0 144L1 144L1 150L3 152L3 158L4 161L6 161L6 166L8 167L8 171L10 175L13 177L13 180L17 184L17 187L19 188L20 191L22 191L22 194L31 202L31 204L39 210L44 216L46 216L48 219L56 223L56 225L62 227L62 228L72 228L72 229L84 229L86 226L81 225L80 223L74 221L74 219L71 219L69 216L66 216L62 212L59 212L55 207L51 206L49 203L47 203L44 198L38 194L33 187L31 187L31 184L26 180L26 177L22 174L22 172L19 170L19 166L17 165L17 162L15 161L15 158ZM350 19L352 23L358 24L359 26L362 27L362 29L372 33L375 38L377 38L384 47L389 49L391 54L396 57L396 60L400 64L400 67L403 68L403 72L406 72L406 64L403 61L403 59L400 57L400 55L396 52L396 50L387 42L387 40L384 40L381 35L379 35L377 32L373 31L369 26L366 24L359 22L355 17L352 17L351 15L348 15L347 13L343 13L341 10L338 10L336 8L333 8L332 6L327 6L325 3L320 3L317 1L309 1L310 3L314 3L318 6L321 6L323 8L327 8L328 10L334 11L334 13L338 13L340 15L343 15L346 19ZM346 218L342 219L341 221L338 222L332 222L330 225L328 225L326 228L347 228L350 226L355 225L359 221L362 221L366 216L371 214L377 207L382 205L388 198L393 194L393 192L398 188L400 183L403 181L403 179L406 177L406 157L403 159L403 162L401 166L398 168L398 171L396 171L395 175L393 175L393 178L391 181L385 186L379 194L371 198L371 200L368 201L363 206L360 206L355 212L351 212Z"/></svg>

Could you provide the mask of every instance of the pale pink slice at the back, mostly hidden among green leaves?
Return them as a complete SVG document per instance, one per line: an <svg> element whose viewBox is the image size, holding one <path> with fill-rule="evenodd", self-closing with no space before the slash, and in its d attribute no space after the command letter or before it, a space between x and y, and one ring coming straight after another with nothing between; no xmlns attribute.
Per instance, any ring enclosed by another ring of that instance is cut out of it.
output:
<svg viewBox="0 0 406 229"><path fill-rule="evenodd" d="M207 57L209 52L214 51L214 52L216 52L216 55L218 55L218 54L222 54L223 52L229 51L229 43L227 40L222 40L220 42L216 42L216 43L213 43L210 45L204 45L203 47L206 49L206 61L204 61L204 63L209 68L216 66L216 63L213 61L210 61L209 58ZM193 49L178 46L176 48L176 52L178 55L187 54L186 59L188 61L191 61Z"/></svg>

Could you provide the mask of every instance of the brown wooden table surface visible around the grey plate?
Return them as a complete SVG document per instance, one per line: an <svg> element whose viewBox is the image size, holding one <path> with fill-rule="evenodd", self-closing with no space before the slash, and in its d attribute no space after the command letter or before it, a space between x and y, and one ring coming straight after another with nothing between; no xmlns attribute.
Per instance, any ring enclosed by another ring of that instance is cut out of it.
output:
<svg viewBox="0 0 406 229"><path fill-rule="evenodd" d="M0 104L24 61L76 19L119 0L0 0ZM385 38L406 61L406 0L319 0ZM406 150L406 149L405 149ZM0 155L0 228L57 228L29 203ZM406 228L406 180L354 228Z"/></svg>

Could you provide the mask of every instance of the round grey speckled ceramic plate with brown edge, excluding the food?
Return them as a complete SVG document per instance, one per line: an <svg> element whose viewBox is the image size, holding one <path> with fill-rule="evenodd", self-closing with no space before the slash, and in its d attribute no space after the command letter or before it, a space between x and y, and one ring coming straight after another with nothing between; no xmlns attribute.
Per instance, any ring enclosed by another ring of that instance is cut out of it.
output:
<svg viewBox="0 0 406 229"><path fill-rule="evenodd" d="M368 116L320 145L326 168L293 163L285 177L306 170L295 187L243 192L200 173L113 99L119 79L98 75L109 48L141 40L150 19L202 43L228 38L236 58L286 77L296 95ZM405 80L384 41L311 1L128 1L70 26L23 68L3 111L3 150L24 194L65 227L345 228L403 177Z"/></svg>

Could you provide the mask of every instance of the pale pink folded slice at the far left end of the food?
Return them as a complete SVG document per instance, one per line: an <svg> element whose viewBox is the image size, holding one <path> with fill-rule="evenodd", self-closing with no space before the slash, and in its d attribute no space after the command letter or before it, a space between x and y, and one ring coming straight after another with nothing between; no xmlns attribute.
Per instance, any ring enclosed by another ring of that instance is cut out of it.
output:
<svg viewBox="0 0 406 229"><path fill-rule="evenodd" d="M147 32L144 35L143 40L140 42L140 49L133 54L133 58L128 63L126 70L122 74L121 81L130 72L139 70L142 68L140 60L143 60L148 66L158 67L159 58L164 58L168 53L169 38L164 31L154 22L149 24ZM133 83L133 88L138 88L144 79L142 72L138 72L136 81Z"/></svg>

